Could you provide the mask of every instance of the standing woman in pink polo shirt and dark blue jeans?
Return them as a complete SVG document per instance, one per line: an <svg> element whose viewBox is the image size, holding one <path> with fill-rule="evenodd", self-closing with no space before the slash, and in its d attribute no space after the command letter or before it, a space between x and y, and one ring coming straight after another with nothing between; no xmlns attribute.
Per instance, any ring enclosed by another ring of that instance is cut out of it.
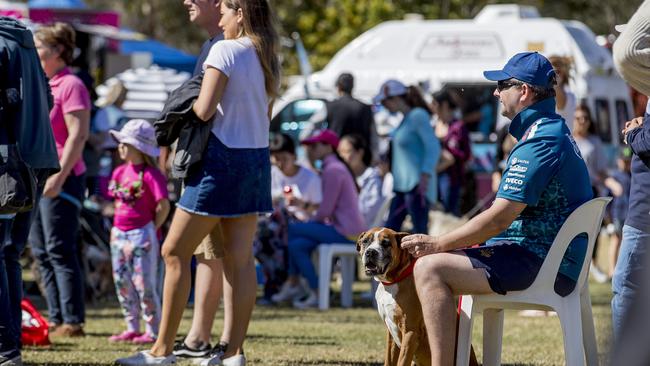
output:
<svg viewBox="0 0 650 366"><path fill-rule="evenodd" d="M72 75L75 33L67 24L41 27L34 43L50 79L54 107L50 121L61 171L48 178L30 232L32 253L47 294L53 336L83 336L83 282L77 258L77 228L85 196L81 154L88 138L90 96Z"/></svg>

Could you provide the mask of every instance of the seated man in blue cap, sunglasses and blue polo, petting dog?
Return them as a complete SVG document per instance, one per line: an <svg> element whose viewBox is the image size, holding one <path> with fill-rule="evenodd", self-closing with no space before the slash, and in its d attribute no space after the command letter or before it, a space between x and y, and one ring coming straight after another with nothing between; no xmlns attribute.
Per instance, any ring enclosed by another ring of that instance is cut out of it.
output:
<svg viewBox="0 0 650 366"><path fill-rule="evenodd" d="M517 140L490 208L441 235L410 235L402 248L414 269L432 365L452 365L459 294L505 294L529 287L564 221L592 198L589 173L571 132L555 113L555 72L536 52L514 55L503 70L486 71L494 95L512 120ZM476 243L484 246L467 248ZM587 247L576 237L560 265L555 290L568 295Z"/></svg>

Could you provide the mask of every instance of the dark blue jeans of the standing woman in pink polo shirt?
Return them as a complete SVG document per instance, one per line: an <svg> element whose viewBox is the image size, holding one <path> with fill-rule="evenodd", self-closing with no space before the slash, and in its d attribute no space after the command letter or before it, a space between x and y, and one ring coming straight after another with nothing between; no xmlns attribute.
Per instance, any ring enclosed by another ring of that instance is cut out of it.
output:
<svg viewBox="0 0 650 366"><path fill-rule="evenodd" d="M29 233L50 323L84 322L84 282L77 253L83 195L84 177L69 176L61 195L41 200Z"/></svg>

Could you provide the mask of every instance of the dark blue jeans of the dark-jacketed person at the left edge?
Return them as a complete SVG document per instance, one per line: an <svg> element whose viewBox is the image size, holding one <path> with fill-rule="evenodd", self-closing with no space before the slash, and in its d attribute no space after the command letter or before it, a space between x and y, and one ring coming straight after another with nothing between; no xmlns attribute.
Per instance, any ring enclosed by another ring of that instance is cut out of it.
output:
<svg viewBox="0 0 650 366"><path fill-rule="evenodd" d="M34 174L38 207L49 170L39 169ZM21 346L23 273L19 260L27 243L33 213L34 210L0 219L0 356L9 359L17 355Z"/></svg>

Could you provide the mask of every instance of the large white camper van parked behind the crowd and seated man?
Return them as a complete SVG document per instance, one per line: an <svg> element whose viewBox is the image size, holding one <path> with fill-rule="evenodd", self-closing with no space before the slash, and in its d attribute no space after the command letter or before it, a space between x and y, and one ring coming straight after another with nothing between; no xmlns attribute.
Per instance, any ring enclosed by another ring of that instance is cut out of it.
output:
<svg viewBox="0 0 650 366"><path fill-rule="evenodd" d="M324 101L336 97L335 81L342 72L354 75L353 94L366 102L389 78L419 84L427 92L451 88L473 119L465 119L474 142L473 169L488 172L503 117L492 96L495 85L483 71L502 68L515 53L538 51L573 58L571 88L592 110L603 142L616 147L632 104L611 54L595 38L581 22L542 18L536 8L520 5L488 5L469 20L384 22L343 47L322 71L290 87L274 107L271 129L297 136Z"/></svg>

